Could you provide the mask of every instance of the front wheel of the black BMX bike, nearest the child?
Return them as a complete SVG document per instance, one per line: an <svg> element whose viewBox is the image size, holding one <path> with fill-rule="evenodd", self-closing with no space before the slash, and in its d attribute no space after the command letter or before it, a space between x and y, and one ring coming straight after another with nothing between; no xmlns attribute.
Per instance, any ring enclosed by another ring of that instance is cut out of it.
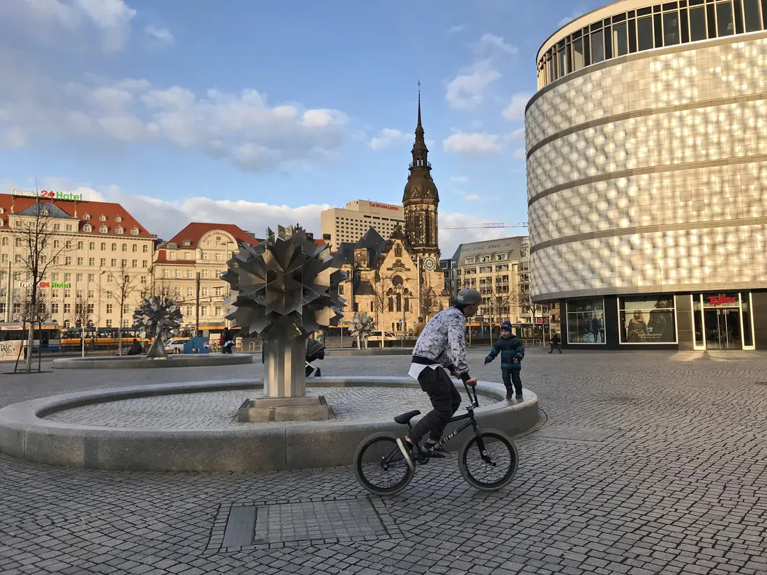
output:
<svg viewBox="0 0 767 575"><path fill-rule="evenodd" d="M461 475L466 483L479 491L496 491L509 485L518 465L516 445L505 433L495 429L474 435L463 445L458 456Z"/></svg>

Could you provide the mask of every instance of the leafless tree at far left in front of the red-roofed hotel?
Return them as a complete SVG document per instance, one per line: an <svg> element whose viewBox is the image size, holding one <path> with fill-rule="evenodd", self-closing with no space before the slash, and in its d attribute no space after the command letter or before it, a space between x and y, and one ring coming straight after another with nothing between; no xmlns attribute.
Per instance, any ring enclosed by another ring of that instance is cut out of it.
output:
<svg viewBox="0 0 767 575"><path fill-rule="evenodd" d="M61 254L71 249L70 241L54 240L60 232L54 225L51 215L53 205L37 201L25 210L24 215L18 216L13 228L14 243L19 248L17 263L26 271L28 290L25 307L28 311L39 310L38 301L41 297L40 282L43 281L49 268L58 265ZM26 316L27 314L25 314ZM31 314L32 317L38 313ZM26 318L25 318L26 320ZM25 330L26 326L22 326ZM34 324L27 332L27 361L26 372L32 370L32 343L34 340Z"/></svg>

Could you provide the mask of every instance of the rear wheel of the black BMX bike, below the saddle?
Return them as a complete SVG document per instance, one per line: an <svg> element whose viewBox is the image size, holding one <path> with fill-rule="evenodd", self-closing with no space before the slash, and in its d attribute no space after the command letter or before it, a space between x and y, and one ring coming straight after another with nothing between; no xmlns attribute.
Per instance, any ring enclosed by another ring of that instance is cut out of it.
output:
<svg viewBox="0 0 767 575"><path fill-rule="evenodd" d="M397 447L397 438L391 433L380 432L367 436L357 447L354 475L370 493L393 495L407 487L413 471Z"/></svg>

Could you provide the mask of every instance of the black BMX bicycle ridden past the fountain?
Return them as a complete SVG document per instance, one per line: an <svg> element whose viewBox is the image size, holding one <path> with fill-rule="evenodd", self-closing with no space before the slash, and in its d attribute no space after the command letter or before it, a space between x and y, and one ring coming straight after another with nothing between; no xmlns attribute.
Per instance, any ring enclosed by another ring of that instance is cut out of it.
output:
<svg viewBox="0 0 767 575"><path fill-rule="evenodd" d="M472 392L463 384L469 395L467 413L455 416L450 422L466 420L458 429L439 440L439 443L426 449L416 445L413 464L415 467L426 465L433 458L433 452L450 439L471 427L474 430L469 440L458 450L458 468L466 482L479 491L497 491L509 485L517 472L518 453L516 445L505 433L496 429L479 430L474 417L474 409L479 407L476 389ZM394 418L394 421L413 429L410 419L420 415L420 411L410 411ZM390 432L377 432L367 436L354 452L354 475L360 485L377 495L394 495L403 491L415 475L410 469L397 446L397 435Z"/></svg>

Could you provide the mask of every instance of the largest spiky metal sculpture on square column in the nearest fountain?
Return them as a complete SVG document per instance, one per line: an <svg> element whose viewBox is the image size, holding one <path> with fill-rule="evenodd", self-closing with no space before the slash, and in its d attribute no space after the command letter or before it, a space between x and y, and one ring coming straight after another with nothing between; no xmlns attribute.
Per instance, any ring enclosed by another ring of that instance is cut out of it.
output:
<svg viewBox="0 0 767 575"><path fill-rule="evenodd" d="M300 227L267 230L254 248L243 245L222 279L236 292L226 318L261 335L269 397L305 395L304 355L309 334L337 326L346 274L334 266L330 246L318 247Z"/></svg>

